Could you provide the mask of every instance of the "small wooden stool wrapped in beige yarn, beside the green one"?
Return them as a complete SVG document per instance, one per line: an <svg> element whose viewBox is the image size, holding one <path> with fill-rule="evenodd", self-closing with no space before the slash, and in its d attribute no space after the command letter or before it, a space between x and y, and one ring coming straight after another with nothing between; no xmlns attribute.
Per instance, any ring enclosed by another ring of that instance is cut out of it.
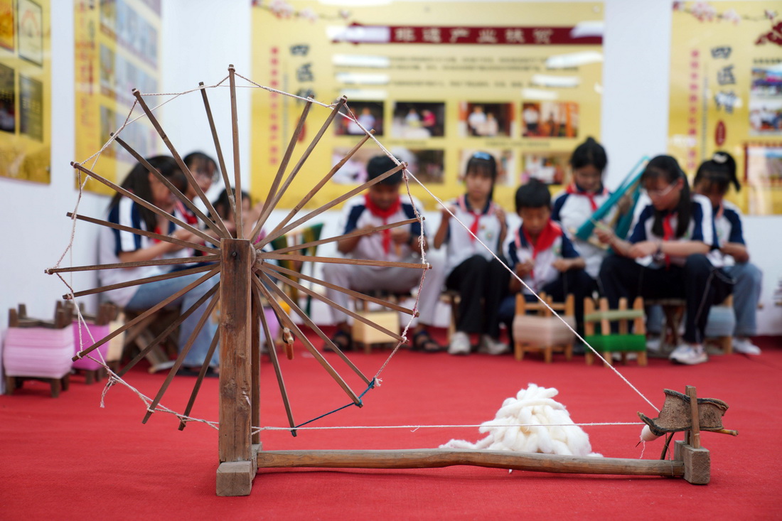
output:
<svg viewBox="0 0 782 521"><path fill-rule="evenodd" d="M540 293L540 298L554 311L563 311L561 317L573 329L576 328L576 304L572 294L562 304L554 304L551 296L545 293ZM537 314L529 315L527 311L536 311ZM516 296L516 314L513 318L516 360L522 360L527 352L543 353L543 360L547 364L551 363L554 353L565 353L565 358L570 360L574 338L573 332L543 304L529 304L521 293Z"/></svg>

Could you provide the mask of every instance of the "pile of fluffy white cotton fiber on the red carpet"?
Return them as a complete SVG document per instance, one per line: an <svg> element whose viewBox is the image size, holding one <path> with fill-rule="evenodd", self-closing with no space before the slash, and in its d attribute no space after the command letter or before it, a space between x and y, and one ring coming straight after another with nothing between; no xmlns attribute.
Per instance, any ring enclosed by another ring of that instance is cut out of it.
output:
<svg viewBox="0 0 782 521"><path fill-rule="evenodd" d="M493 420L481 424L479 432L488 433L485 438L475 444L450 440L440 448L602 457L592 452L589 436L573 424L565 406L554 401L558 393L530 383L515 398L503 401Z"/></svg>

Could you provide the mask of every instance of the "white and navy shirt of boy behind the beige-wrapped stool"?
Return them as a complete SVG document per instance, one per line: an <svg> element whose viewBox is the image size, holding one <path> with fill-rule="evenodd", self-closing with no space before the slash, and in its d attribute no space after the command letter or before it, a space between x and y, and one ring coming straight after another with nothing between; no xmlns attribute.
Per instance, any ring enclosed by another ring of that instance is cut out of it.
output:
<svg viewBox="0 0 782 521"><path fill-rule="evenodd" d="M537 255L534 255L533 245L529 243L524 235L523 224L505 240L505 245L503 246L503 250L508 253L508 266L511 269L515 268L519 262L533 260L533 271L522 278L522 280L535 293L540 293L543 286L557 280L560 271L551 265L554 260L579 257L579 252L573 246L568 233L554 221L549 221L549 225L553 227L556 238L551 243L551 246L539 251ZM522 293L532 295L533 293L530 289L523 287Z"/></svg>

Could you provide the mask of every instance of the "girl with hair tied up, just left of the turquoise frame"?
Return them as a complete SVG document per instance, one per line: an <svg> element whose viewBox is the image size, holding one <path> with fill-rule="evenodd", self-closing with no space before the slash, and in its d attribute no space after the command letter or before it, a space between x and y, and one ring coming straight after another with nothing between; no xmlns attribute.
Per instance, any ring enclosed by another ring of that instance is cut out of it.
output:
<svg viewBox="0 0 782 521"><path fill-rule="evenodd" d="M603 172L608 165L608 156L600 143L593 138L581 143L573 150L570 156L572 168L572 182L554 197L554 206L551 210L551 219L558 221L570 234L575 234L585 222L592 218L597 208L611 196L611 192L603 186ZM605 222L611 221L616 210L609 212L604 217ZM577 237L573 239L573 245L581 254L587 267L587 274L597 279L600 265L608 254L599 244L583 241ZM593 282L592 289L597 289L597 282ZM590 292L591 293L591 292Z"/></svg>

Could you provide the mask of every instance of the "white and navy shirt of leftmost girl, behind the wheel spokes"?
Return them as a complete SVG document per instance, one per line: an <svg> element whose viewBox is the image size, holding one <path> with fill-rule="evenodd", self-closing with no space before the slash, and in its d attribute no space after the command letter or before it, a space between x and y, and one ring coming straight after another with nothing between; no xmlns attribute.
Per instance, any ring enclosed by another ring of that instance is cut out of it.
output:
<svg viewBox="0 0 782 521"><path fill-rule="evenodd" d="M138 211L139 205L127 197L123 197L109 210L109 222L117 225L129 226L146 230L146 225ZM184 221L178 210L174 210L174 217ZM170 235L178 229L177 225L169 222L168 229L163 231L163 235ZM98 262L99 264L117 264L120 262L120 252L143 250L154 244L154 240L145 235L137 235L131 232L124 232L103 226L99 236ZM192 257L191 248L183 248L174 252L166 253L157 258L179 258ZM153 277L168 273L174 268L181 267L184 264L170 264L164 266L139 266L138 268L118 268L113 270L99 270L98 280L101 286L118 284L120 282L129 282L137 278ZM131 301L138 286L127 286L125 288L112 289L104 293L107 299L111 300L117 306L124 307Z"/></svg>

